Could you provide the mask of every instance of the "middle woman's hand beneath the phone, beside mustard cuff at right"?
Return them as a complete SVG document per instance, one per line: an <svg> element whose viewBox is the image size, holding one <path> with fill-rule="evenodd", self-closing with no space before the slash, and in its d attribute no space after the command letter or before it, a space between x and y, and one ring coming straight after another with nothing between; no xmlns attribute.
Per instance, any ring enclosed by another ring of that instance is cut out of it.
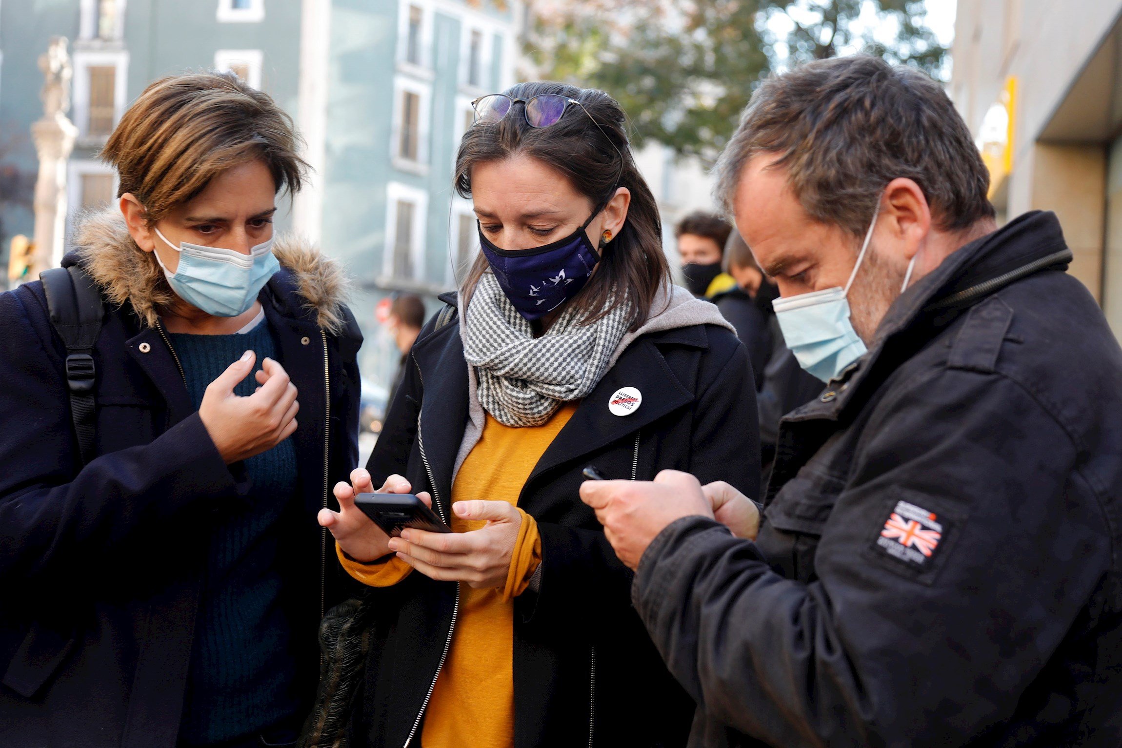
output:
<svg viewBox="0 0 1122 748"><path fill-rule="evenodd" d="M419 572L438 581L467 582L479 588L506 587L507 570L522 526L522 512L506 501L457 501L457 517L487 520L467 533L405 529L389 548Z"/></svg>

